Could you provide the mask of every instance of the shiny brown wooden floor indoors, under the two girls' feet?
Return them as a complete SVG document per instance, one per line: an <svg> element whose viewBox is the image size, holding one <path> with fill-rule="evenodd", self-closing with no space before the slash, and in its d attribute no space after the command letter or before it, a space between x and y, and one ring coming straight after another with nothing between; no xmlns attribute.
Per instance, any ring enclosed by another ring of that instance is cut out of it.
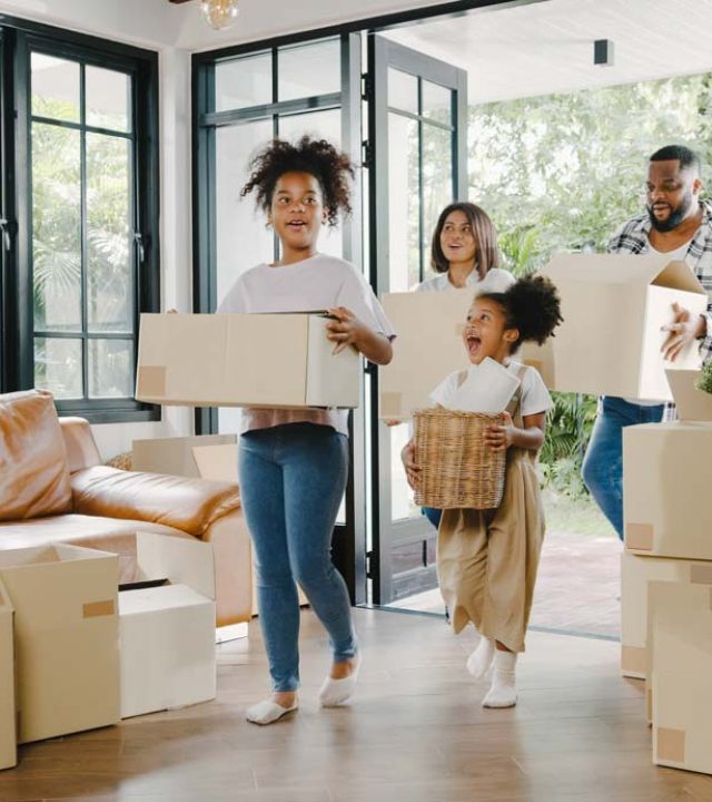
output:
<svg viewBox="0 0 712 802"><path fill-rule="evenodd" d="M532 633L520 704L479 705L464 662L474 634L439 618L356 610L364 651L350 707L315 703L328 663L303 614L301 710L244 721L265 692L257 627L219 648L216 702L21 750L0 800L123 802L710 802L712 777L656 769L641 683L617 644Z"/></svg>

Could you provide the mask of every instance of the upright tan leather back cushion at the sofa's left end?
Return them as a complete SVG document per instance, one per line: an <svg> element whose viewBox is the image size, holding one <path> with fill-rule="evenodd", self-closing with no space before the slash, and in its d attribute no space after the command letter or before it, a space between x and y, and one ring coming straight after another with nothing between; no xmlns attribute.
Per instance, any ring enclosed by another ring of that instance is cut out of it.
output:
<svg viewBox="0 0 712 802"><path fill-rule="evenodd" d="M52 394L0 395L0 520L71 512L65 441Z"/></svg>

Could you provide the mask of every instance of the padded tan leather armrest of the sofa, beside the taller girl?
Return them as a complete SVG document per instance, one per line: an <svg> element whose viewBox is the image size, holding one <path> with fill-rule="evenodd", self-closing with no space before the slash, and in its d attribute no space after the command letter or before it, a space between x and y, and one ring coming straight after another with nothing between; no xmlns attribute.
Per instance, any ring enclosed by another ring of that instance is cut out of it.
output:
<svg viewBox="0 0 712 802"><path fill-rule="evenodd" d="M237 485L95 466L71 476L75 512L132 518L202 538L240 506Z"/></svg>

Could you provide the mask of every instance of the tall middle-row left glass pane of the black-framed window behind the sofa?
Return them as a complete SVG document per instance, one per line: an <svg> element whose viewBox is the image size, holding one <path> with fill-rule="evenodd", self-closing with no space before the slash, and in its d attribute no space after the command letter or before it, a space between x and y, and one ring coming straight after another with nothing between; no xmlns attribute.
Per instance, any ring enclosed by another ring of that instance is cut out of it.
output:
<svg viewBox="0 0 712 802"><path fill-rule="evenodd" d="M32 124L34 329L81 330L79 131Z"/></svg>

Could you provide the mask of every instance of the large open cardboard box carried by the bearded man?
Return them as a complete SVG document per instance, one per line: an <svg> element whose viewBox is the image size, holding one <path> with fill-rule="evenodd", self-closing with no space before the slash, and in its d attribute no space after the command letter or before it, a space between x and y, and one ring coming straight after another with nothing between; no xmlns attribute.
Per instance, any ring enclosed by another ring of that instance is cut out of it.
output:
<svg viewBox="0 0 712 802"><path fill-rule="evenodd" d="M542 271L557 286L564 322L556 336L523 353L548 388L564 392L672 400L661 327L678 302L693 315L708 295L684 262L656 254L558 254ZM700 366L698 343L675 360Z"/></svg>

